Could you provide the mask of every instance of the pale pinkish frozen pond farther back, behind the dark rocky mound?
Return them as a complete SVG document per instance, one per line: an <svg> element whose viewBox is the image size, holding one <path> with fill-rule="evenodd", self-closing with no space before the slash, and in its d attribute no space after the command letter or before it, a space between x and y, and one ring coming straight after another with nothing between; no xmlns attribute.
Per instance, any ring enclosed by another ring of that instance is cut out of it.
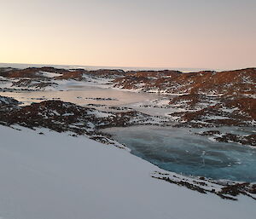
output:
<svg viewBox="0 0 256 219"><path fill-rule="evenodd" d="M78 86L73 86L67 90L0 92L0 95L13 97L16 100L23 102L24 105L45 100L61 100L73 102L80 106L87 104L102 104L106 106L128 105L127 107L143 101L155 100L163 96L123 91L118 89L102 89L89 86L84 86L80 89Z"/></svg>

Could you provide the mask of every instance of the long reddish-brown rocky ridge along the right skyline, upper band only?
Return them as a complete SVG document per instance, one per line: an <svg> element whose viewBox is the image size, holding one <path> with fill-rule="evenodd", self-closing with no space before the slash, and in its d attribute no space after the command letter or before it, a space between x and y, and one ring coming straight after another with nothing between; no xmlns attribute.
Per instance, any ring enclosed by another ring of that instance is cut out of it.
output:
<svg viewBox="0 0 256 219"><path fill-rule="evenodd" d="M226 72L132 72L114 81L116 87L174 94L255 94L256 68ZM142 86L143 84L143 86Z"/></svg>

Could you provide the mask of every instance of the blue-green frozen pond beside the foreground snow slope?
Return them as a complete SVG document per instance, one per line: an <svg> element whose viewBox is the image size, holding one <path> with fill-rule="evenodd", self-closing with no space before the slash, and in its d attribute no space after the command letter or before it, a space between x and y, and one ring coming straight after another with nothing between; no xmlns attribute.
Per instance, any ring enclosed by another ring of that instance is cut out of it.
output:
<svg viewBox="0 0 256 219"><path fill-rule="evenodd" d="M193 134L193 129L136 126L104 131L161 169L187 176L256 182L256 148L210 141Z"/></svg>

